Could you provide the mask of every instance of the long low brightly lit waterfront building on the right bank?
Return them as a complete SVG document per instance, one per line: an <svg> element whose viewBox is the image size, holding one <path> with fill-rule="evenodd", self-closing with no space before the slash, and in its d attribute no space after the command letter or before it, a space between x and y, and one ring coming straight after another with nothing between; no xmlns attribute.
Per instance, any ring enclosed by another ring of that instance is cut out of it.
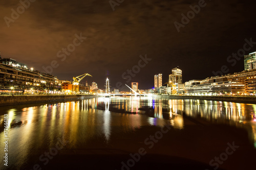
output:
<svg viewBox="0 0 256 170"><path fill-rule="evenodd" d="M244 70L223 76L185 83L187 94L193 95L255 95L256 70Z"/></svg>

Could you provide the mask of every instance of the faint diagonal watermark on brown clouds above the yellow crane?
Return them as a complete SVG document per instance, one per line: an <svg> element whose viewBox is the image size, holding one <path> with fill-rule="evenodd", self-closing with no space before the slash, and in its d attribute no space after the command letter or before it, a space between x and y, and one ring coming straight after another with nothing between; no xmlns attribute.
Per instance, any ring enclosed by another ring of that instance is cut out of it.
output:
<svg viewBox="0 0 256 170"><path fill-rule="evenodd" d="M61 61L65 61L67 56L71 55L72 52L76 50L76 47L81 45L81 43L87 38L83 37L82 33L80 35L75 34L76 38L74 38L73 43L67 45L66 48L62 48L60 51L57 52L57 57L60 58ZM42 66L48 74L52 74L53 68L57 68L59 63L57 60L52 60L50 65Z"/></svg>

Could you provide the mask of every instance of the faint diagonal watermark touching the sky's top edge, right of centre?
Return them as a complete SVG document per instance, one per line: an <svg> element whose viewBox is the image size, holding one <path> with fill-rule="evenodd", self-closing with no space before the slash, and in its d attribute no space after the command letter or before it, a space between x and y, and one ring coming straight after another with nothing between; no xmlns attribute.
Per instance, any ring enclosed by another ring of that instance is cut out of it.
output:
<svg viewBox="0 0 256 170"><path fill-rule="evenodd" d="M188 11L186 15L183 13L181 14L182 16L181 23L177 21L174 22L174 26L178 31L178 33L180 32L180 28L184 28L186 25L188 25L188 23L190 22L190 19L195 18L196 14L199 14L199 12L201 11L201 8L204 8L206 5L207 4L204 0L199 0L198 5L194 5L194 6L190 5L189 8L191 9L191 11Z"/></svg>

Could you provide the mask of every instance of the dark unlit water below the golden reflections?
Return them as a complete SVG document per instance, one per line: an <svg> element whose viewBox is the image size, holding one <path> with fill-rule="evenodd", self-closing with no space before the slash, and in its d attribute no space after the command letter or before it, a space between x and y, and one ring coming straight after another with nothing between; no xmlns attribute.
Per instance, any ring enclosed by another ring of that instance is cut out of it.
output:
<svg viewBox="0 0 256 170"><path fill-rule="evenodd" d="M26 169L255 169L256 150L246 130L183 117L184 129L170 127L162 137L161 128L141 127L116 133L107 145L98 138L86 147L64 147L46 165L32 155Z"/></svg>

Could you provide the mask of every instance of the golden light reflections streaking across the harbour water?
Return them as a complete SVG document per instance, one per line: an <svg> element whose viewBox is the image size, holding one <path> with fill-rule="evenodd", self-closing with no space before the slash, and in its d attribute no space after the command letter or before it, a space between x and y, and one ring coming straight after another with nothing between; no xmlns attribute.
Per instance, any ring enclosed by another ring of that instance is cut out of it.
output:
<svg viewBox="0 0 256 170"><path fill-rule="evenodd" d="M102 108L97 109L100 107ZM113 108L117 111L112 112ZM118 109L123 110L118 112ZM218 124L250 126L250 137L256 147L255 111L256 105L253 104L130 97L47 104L19 111L9 109L6 113L9 126L12 122L22 122L21 126L9 130L12 146L10 154L17 156L15 161L19 164L32 155L32 152L51 148L59 136L68 140L67 147L73 149L92 144L95 140L108 143L114 136L113 132L136 131L143 126L161 127L170 124L176 129L183 129L184 112L186 116L201 117ZM2 122L1 117L1 125ZM2 143L3 135L3 132L0 133ZM1 147L2 145L0 144Z"/></svg>

